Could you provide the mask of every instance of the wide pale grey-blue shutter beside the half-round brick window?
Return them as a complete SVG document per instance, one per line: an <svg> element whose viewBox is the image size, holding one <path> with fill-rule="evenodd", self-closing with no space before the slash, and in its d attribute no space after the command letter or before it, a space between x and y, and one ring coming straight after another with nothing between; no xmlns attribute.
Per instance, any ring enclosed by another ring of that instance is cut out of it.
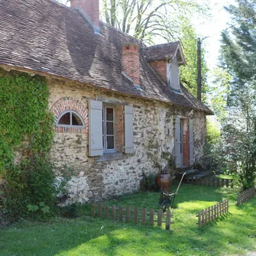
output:
<svg viewBox="0 0 256 256"><path fill-rule="evenodd" d="M103 154L102 102L89 100L89 157Z"/></svg>

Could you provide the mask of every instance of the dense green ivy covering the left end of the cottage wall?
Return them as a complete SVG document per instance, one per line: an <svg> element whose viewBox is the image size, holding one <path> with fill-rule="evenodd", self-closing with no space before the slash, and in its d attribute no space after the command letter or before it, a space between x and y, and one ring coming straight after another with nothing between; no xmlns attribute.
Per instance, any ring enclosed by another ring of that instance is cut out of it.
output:
<svg viewBox="0 0 256 256"><path fill-rule="evenodd" d="M45 215L63 187L49 160L48 99L44 77L0 70L0 222Z"/></svg>

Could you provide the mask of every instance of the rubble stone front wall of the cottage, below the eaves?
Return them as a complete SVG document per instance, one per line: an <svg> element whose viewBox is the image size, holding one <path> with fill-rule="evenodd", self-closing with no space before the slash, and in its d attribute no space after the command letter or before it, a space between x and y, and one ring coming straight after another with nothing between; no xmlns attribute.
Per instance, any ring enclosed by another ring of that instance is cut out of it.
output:
<svg viewBox="0 0 256 256"><path fill-rule="evenodd" d="M64 97L75 99L85 108L88 108L89 99L132 105L134 108L134 154L117 152L104 154L102 157L88 157L88 133L56 131L52 149L53 160L59 166L66 164L76 170L76 177L70 183L71 201L100 200L137 191L142 173L157 173L167 164L164 157L166 153L174 152L174 116L188 118L191 115L191 109L121 96L89 85L56 79L48 79L47 83L50 89L50 108ZM195 118L194 154L196 162L199 162L203 156L206 118L199 112L193 112L192 118Z"/></svg>

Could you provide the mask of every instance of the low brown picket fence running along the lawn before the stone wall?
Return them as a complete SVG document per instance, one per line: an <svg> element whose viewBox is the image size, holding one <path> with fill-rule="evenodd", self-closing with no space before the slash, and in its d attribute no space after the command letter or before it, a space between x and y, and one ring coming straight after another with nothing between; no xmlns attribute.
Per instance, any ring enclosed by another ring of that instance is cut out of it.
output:
<svg viewBox="0 0 256 256"><path fill-rule="evenodd" d="M170 229L171 218L173 215L170 209L163 213L162 209L155 212L154 209L147 211L146 208L139 209L138 207L123 207L123 206L108 206L105 203L92 203L91 208L92 217L99 217L103 219L111 219L112 221L120 221L126 223L141 223L142 225L154 225L161 227L165 223L165 229Z"/></svg>

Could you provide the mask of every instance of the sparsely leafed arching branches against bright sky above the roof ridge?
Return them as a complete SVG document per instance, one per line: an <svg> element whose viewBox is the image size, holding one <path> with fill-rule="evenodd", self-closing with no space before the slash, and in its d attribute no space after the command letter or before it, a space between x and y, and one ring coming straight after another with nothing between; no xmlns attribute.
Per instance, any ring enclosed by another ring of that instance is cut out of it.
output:
<svg viewBox="0 0 256 256"><path fill-rule="evenodd" d="M103 0L103 21L114 28L131 34L141 41L152 42L152 37L162 36L170 31L175 34L180 27L180 19L193 11L203 13L207 5L196 1L183 0Z"/></svg>

